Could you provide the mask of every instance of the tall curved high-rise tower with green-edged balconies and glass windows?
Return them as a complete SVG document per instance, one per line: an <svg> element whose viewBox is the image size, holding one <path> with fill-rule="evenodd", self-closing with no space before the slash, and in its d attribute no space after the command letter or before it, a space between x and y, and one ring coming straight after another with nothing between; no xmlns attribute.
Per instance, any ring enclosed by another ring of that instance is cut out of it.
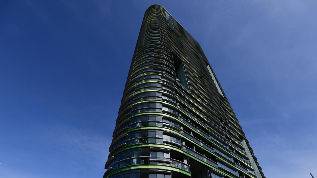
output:
<svg viewBox="0 0 317 178"><path fill-rule="evenodd" d="M104 178L265 178L200 45L144 15Z"/></svg>

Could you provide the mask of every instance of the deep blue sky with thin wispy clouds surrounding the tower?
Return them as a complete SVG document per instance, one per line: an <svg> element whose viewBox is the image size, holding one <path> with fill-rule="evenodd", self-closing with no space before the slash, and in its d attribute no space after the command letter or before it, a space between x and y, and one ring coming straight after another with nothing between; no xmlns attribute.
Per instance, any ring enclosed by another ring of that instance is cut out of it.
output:
<svg viewBox="0 0 317 178"><path fill-rule="evenodd" d="M268 178L317 176L312 0L0 1L0 177L102 177L146 8L200 43Z"/></svg>

